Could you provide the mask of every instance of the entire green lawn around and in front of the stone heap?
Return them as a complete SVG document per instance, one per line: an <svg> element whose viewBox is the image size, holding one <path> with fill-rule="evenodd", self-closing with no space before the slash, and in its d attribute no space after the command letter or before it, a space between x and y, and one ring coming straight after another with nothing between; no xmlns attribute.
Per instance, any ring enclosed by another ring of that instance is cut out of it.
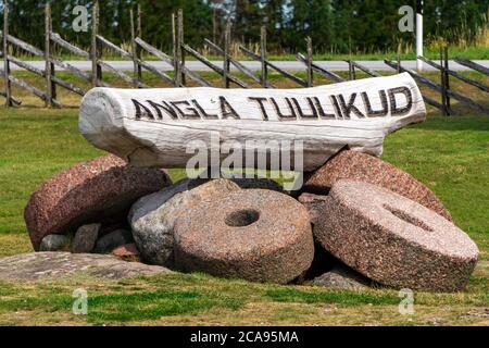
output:
<svg viewBox="0 0 489 348"><path fill-rule="evenodd" d="M28 108L0 108L0 257L32 251L23 209L36 187L102 153L78 134L75 108L32 108L39 103L16 95ZM61 97L68 104L79 100ZM389 136L384 159L430 187L478 245L480 261L464 293L416 293L415 313L402 315L398 291L385 288L351 293L203 274L118 282L80 274L34 284L0 282L0 324L489 325L489 116L454 109L464 116L431 112L426 123ZM171 174L181 177L180 171ZM72 313L76 288L88 291L88 315Z"/></svg>

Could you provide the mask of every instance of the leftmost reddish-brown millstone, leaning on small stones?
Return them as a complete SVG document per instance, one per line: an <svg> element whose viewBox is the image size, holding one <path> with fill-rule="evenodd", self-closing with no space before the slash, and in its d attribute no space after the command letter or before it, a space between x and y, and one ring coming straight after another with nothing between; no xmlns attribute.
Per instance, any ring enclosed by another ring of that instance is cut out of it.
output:
<svg viewBox="0 0 489 348"><path fill-rule="evenodd" d="M114 156L76 164L52 176L30 197L24 217L33 246L37 250L49 234L124 216L138 198L170 184L163 170L134 167Z"/></svg>

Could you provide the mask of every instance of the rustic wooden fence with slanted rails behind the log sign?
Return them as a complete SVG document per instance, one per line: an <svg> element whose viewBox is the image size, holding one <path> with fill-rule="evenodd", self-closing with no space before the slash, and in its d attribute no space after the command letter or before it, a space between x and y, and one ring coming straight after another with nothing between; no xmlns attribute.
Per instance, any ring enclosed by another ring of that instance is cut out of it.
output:
<svg viewBox="0 0 489 348"><path fill-rule="evenodd" d="M57 76L57 67L67 71L80 78L82 80L90 83L92 87L110 87L111 85L103 80L103 71L108 71L113 73L120 79L129 84L134 88L148 88L148 86L142 78L142 71L147 71L150 74L159 77L165 84L175 86L175 87L185 87L187 86L188 80L192 80L199 86L211 86L211 83L202 77L200 74L189 70L186 66L186 60L188 55L191 55L195 60L200 61L205 66L211 69L213 72L217 73L222 77L222 87L231 88L250 88L252 84L259 85L263 88L275 88L273 83L271 82L268 74L269 71L277 72L281 77L287 78L293 83L296 83L299 87L313 87L314 86L314 77L322 76L328 79L331 83L341 83L347 80L342 76L328 71L317 63L313 61L313 42L310 37L305 39L306 41L306 52L298 53L297 60L304 65L305 70L305 78L299 77L291 72L280 69L274 62L269 61L267 58L266 50L266 29L262 27L260 35L260 52L256 53L246 47L240 46L239 50L242 54L248 57L249 59L256 61L260 63L260 71L255 73L251 69L247 67L242 64L237 58L231 57L230 51L230 37L231 37L231 26L230 24L226 25L224 33L223 47L220 47L216 42L204 39L204 45L216 55L221 57L223 60L223 65L220 66L215 62L211 61L204 54L200 53L197 49L190 47L185 42L185 28L184 28L184 13L183 11L178 11L177 14L172 14L172 37L173 37L173 52L167 54L160 49L151 46L142 38L141 30L141 11L138 7L136 11L130 11L130 52L124 50L120 46L111 42L106 38L103 37L102 33L100 33L99 25L99 4L96 1L92 8L92 27L91 27L91 46L90 50L86 51L82 48L76 47L75 45L70 44L64 40L62 36L52 30L52 17L51 17L51 8L46 4L46 40L43 50L36 48L20 38L16 38L9 33L9 7L8 3L4 4L4 18L3 18L3 32L2 42L3 48L1 55L3 57L4 70L0 71L4 78L5 90L0 91L0 96L5 98L5 104L8 107L20 105L22 101L12 95L12 85L16 85L21 88L24 88L28 92L37 96L42 101L45 101L47 107L62 107L61 102L57 99L58 96L58 86L70 90L71 92L77 94L79 96L84 96L86 90L82 87L76 86L73 83L68 83L66 80L61 79ZM39 57L45 60L46 65L43 70L35 67L33 64L29 64L25 61L13 55L13 50L11 48L20 48L23 51L26 51L30 54ZM61 48L63 50L68 51L71 54L75 54L76 57L83 58L86 61L91 62L91 71L85 72L82 71L72 64L63 61L61 58L54 54L55 48ZM110 50L123 59L127 61L131 61L134 65L133 74L127 73L125 71L118 70L112 66L108 61L103 60L103 52L105 50ZM142 52L146 52L145 55L150 54L151 57L156 58L158 60L168 64L173 70L173 76L167 72L158 69L154 64L151 64L149 61L145 61L142 59ZM397 62L385 60L385 64L390 66L391 69L400 72L408 72L411 74L418 84L434 90L435 92L440 95L440 102L424 96L425 102L441 110L441 112L446 115L450 115L452 113L451 110L451 101L456 100L460 103L473 108L481 113L489 114L489 108L477 103L463 96L461 92L456 92L450 88L450 77L462 80L465 84L474 86L479 90L485 92L489 92L489 86L477 82L473 78L466 77L457 72L450 70L449 67L449 59L448 59L448 49L447 47L443 50L440 50L440 62L437 63L427 58L419 57L418 59L423 60L426 64L432 66L434 69L440 72L440 82L436 83L430 80L429 78L422 76L421 74L408 70L402 66L400 59L398 58ZM348 79L356 79L358 71L365 73L368 76L378 77L381 76L379 72L373 71L366 66L363 66L361 63L348 60L346 61L349 66L348 71ZM477 71L478 73L489 75L489 70L476 62L472 62L469 60L465 60L462 58L456 58L455 62L462 64L464 66L469 67L471 70ZM17 78L12 75L11 64L18 65L20 67L36 74L45 79L45 89L41 90L29 83ZM242 78L235 76L231 74L231 66L234 66L238 72L240 72L243 76L246 76L250 82L246 82Z"/></svg>

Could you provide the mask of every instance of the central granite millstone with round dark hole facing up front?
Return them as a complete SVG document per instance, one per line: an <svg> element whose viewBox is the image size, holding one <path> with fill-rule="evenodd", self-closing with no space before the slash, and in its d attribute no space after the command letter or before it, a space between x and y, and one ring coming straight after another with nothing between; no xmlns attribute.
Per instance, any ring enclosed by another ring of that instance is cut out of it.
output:
<svg viewBox="0 0 489 348"><path fill-rule="evenodd" d="M239 190L196 204L174 231L175 264L187 272L285 284L314 257L308 211L272 190Z"/></svg>

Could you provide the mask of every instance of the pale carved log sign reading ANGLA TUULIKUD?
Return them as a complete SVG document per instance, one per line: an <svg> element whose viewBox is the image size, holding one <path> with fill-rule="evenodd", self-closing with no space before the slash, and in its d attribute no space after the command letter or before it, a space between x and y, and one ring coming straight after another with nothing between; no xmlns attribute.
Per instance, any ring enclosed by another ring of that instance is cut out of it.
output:
<svg viewBox="0 0 489 348"><path fill-rule="evenodd" d="M161 167L185 167L189 144L211 148L216 135L217 145L247 151L301 141L302 170L312 171L346 146L380 156L386 135L425 119L421 91L404 73L301 89L93 88L79 129L131 164ZM266 151L283 154L280 146Z"/></svg>

